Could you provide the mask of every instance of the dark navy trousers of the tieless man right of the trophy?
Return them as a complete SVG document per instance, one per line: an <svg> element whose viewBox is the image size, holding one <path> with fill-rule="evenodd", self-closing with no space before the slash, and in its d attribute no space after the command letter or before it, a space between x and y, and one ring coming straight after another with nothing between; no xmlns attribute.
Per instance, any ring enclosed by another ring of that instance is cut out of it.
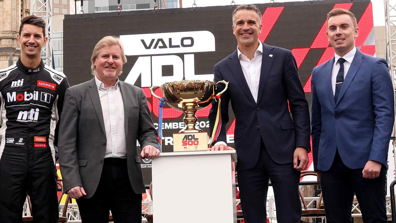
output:
<svg viewBox="0 0 396 223"><path fill-rule="evenodd" d="M293 163L274 162L261 142L259 161L252 169L238 171L238 185L242 212L246 223L264 223L267 220L266 203L268 179L274 189L278 223L299 223L301 202L298 194L300 171Z"/></svg>

